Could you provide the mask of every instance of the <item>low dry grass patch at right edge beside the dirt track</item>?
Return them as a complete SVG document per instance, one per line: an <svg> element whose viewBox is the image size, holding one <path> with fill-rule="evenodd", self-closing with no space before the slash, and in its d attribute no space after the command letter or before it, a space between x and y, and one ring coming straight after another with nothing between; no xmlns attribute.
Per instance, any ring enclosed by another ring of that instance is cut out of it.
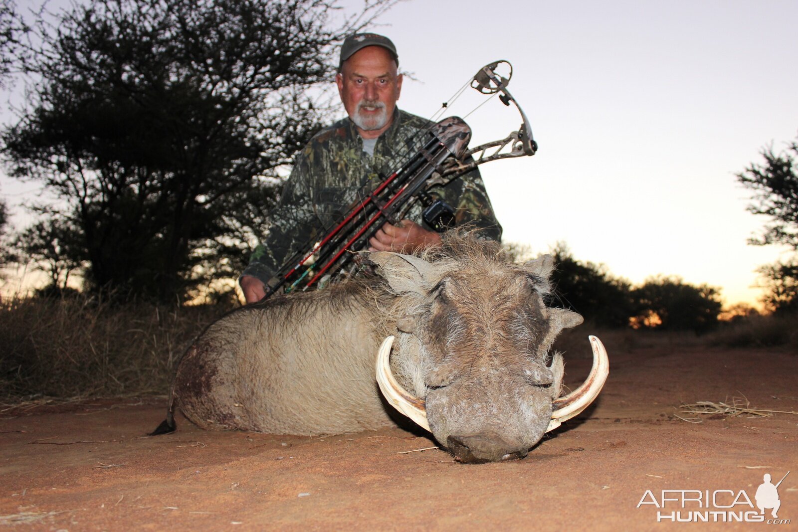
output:
<svg viewBox="0 0 798 532"><path fill-rule="evenodd" d="M789 347L798 352L798 313L754 315L729 321L709 340L725 347Z"/></svg>

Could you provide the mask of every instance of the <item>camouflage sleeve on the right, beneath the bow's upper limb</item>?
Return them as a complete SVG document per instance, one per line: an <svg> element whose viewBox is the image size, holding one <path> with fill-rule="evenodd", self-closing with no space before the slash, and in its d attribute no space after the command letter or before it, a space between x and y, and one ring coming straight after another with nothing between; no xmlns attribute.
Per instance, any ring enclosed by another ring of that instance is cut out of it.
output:
<svg viewBox="0 0 798 532"><path fill-rule="evenodd" d="M468 225L483 238L501 241L502 227L493 214L478 168L452 179L444 187L434 187L432 191L454 207L457 227Z"/></svg>

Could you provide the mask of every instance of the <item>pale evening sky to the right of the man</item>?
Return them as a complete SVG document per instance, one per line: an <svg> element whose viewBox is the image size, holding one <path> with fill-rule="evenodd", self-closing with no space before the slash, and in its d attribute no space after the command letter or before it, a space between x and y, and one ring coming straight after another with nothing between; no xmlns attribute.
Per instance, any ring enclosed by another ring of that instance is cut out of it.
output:
<svg viewBox="0 0 798 532"><path fill-rule="evenodd" d="M754 270L785 256L746 244L767 219L745 211L734 174L798 135L796 21L792 0L412 0L375 30L417 78L399 105L421 116L481 66L512 63L539 152L480 167L505 241L567 242L631 282L679 275L732 304L757 301ZM468 89L448 114L481 98ZM496 99L467 121L472 145L520 124ZM0 176L12 205L34 189Z"/></svg>

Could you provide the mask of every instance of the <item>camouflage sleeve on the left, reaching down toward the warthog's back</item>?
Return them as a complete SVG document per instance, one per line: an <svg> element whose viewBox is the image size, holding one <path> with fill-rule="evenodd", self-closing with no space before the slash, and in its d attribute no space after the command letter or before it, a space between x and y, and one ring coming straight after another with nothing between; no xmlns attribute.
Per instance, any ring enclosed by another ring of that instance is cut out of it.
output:
<svg viewBox="0 0 798 532"><path fill-rule="evenodd" d="M251 275L274 286L280 268L310 246L316 228L311 191L310 164L300 152L282 189L279 207L271 215L269 232L255 247L242 276Z"/></svg>

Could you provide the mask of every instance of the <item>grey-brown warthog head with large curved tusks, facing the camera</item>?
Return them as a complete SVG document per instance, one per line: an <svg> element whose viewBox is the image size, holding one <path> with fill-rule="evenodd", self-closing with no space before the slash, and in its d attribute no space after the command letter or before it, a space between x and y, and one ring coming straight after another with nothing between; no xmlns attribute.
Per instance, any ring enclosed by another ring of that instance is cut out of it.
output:
<svg viewBox="0 0 798 532"><path fill-rule="evenodd" d="M392 311L396 330L386 331L397 345L389 363L393 336L385 338L377 382L461 462L523 458L600 391L608 364L591 337L591 376L559 397L563 358L551 344L583 320L545 305L550 256L518 264L498 244L452 238L425 258L378 252L371 260L403 296Z"/></svg>

